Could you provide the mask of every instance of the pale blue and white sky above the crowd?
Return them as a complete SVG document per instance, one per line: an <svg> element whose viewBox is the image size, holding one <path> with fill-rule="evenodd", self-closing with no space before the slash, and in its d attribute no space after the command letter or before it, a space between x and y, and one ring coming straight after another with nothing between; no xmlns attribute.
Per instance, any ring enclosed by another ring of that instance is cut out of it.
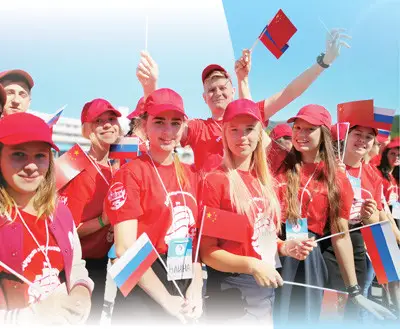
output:
<svg viewBox="0 0 400 329"><path fill-rule="evenodd" d="M309 103L326 106L334 118L337 103L357 99L399 108L397 0L4 1L0 70L22 68L33 75L33 110L53 113L68 104L64 115L78 118L83 104L96 97L132 108L141 96L135 69L148 15L149 51L160 66L160 87L181 93L190 117L206 118L202 69L219 63L232 72L234 58L280 8L298 32L280 60L261 43L254 49L255 100L273 95L315 62L326 35L318 17L328 27L346 28L353 40L352 48L343 49L334 65L274 119L284 120Z"/></svg>

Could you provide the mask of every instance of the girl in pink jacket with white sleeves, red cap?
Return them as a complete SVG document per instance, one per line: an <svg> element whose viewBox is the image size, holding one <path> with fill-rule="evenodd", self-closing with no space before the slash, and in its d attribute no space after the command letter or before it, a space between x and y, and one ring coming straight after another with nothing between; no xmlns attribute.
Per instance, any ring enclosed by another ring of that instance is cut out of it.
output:
<svg viewBox="0 0 400 329"><path fill-rule="evenodd" d="M0 266L0 324L77 324L89 315L93 282L73 218L56 202L51 148L42 119L0 121L0 260L15 271Z"/></svg>

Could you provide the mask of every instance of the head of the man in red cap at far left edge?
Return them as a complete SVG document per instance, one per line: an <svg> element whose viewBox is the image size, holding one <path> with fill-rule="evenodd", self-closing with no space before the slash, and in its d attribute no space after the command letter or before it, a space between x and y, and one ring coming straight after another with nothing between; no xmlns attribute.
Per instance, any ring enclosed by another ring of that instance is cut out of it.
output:
<svg viewBox="0 0 400 329"><path fill-rule="evenodd" d="M31 104L31 89L34 82L29 73L23 70L8 70L0 73L0 85L4 88L7 100L2 116L26 112Z"/></svg>

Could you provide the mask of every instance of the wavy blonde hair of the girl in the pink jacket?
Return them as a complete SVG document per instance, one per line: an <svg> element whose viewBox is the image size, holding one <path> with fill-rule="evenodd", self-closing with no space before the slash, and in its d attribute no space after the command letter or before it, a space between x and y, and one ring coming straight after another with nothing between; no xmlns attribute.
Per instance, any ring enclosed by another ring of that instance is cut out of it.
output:
<svg viewBox="0 0 400 329"><path fill-rule="evenodd" d="M0 154L3 145L0 144ZM54 214L56 208L56 177L54 167L54 157L51 150L49 150L49 169L43 182L39 185L33 200L33 207L37 211L37 218L43 215L46 217ZM7 183L0 170L0 215L7 216L16 207L14 199L7 192ZM15 220L16 215L13 220Z"/></svg>

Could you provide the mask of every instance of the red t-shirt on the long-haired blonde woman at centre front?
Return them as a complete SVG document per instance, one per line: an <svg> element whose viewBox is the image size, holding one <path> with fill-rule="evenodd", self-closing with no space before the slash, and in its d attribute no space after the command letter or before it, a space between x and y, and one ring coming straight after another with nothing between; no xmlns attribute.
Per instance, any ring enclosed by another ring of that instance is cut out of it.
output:
<svg viewBox="0 0 400 329"><path fill-rule="evenodd" d="M255 208L258 210L257 217L254 220L249 220L246 234L247 240L245 243L218 239L218 246L235 255L255 257L266 260L270 264L275 264L277 250L275 222L273 219L265 217L265 206L261 199L259 183L255 176L250 172L240 170L238 170L238 173L252 195L252 200L250 202L254 202ZM205 206L237 213L230 199L229 180L222 168L218 168L206 175L203 190L203 204ZM267 254L261 257L259 238L264 232L270 232L273 240L269 245L270 248L267 250Z"/></svg>

